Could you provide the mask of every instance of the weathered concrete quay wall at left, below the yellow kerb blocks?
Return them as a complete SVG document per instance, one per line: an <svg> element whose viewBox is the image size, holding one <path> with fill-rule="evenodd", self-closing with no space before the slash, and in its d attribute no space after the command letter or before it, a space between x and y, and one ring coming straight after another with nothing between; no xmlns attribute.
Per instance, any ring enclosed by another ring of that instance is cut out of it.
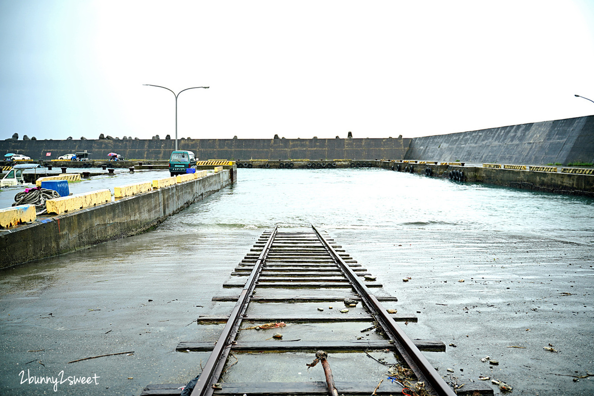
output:
<svg viewBox="0 0 594 396"><path fill-rule="evenodd" d="M2 230L0 268L139 234L233 180L233 169L222 170L205 178Z"/></svg>

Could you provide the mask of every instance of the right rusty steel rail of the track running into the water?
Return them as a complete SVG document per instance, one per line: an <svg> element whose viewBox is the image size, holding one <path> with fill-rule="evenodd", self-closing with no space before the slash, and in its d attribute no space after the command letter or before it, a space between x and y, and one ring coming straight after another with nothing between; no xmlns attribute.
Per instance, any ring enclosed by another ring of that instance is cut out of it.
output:
<svg viewBox="0 0 594 396"><path fill-rule="evenodd" d="M352 268L340 257L334 248L324 239L318 229L311 224L312 229L326 250L333 256L334 261L339 265L340 270L350 280L356 293L361 297L362 302L384 328L390 339L394 341L394 347L398 350L405 362L413 370L419 381L424 381L429 392L439 396L455 396L456 393L445 383L444 379L437 373L431 363L419 351L412 340L405 334L396 321L387 313L386 308L371 293L371 290L361 281Z"/></svg>

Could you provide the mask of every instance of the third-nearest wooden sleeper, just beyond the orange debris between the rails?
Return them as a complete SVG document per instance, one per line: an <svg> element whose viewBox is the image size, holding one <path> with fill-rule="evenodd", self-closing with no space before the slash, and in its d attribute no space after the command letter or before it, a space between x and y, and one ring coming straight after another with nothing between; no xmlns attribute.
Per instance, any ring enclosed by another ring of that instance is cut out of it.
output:
<svg viewBox="0 0 594 396"><path fill-rule="evenodd" d="M336 307L337 311L340 311L341 307ZM392 313L390 315L395 321L397 322L417 322L418 318L416 315L412 313ZM204 315L198 317L198 324L208 324L208 323L225 323L229 319L228 316L214 316L214 315ZM299 323L299 322L373 322L374 318L371 316L347 316L347 315L299 315L299 316L292 316L292 315L282 315L282 316L246 316L243 320L245 322L260 322L260 323L270 323L270 322L285 322L285 323Z"/></svg>

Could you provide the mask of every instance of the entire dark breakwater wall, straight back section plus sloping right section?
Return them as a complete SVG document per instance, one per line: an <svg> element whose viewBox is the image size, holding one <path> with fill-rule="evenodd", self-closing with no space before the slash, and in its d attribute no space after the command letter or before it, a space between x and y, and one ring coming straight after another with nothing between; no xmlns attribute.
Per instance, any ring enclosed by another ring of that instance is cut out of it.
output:
<svg viewBox="0 0 594 396"><path fill-rule="evenodd" d="M406 132L406 131L403 131ZM594 116L524 123L419 138L181 139L200 159L431 160L467 163L594 163ZM115 152L132 160L167 160L175 140L3 140L0 152L53 160L87 151L91 160Z"/></svg>

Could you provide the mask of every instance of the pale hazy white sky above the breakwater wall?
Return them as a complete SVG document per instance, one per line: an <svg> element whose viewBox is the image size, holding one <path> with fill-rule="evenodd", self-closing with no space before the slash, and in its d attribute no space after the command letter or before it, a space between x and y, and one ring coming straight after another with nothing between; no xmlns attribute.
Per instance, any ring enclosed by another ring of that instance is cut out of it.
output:
<svg viewBox="0 0 594 396"><path fill-rule="evenodd" d="M0 0L0 139L418 137L594 114L594 1Z"/></svg>

